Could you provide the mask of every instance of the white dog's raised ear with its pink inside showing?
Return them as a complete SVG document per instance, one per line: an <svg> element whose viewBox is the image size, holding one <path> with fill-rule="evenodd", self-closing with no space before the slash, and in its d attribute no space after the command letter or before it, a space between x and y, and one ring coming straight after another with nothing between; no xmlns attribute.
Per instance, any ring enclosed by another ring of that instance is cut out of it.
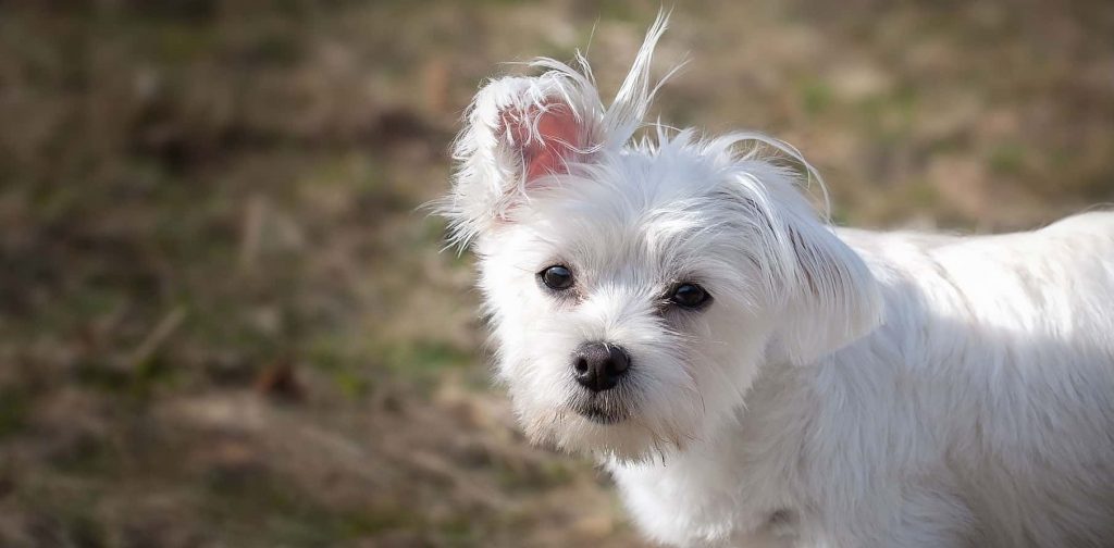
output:
<svg viewBox="0 0 1114 548"><path fill-rule="evenodd" d="M571 71L507 77L477 94L455 148L442 207L459 243L508 222L529 194L592 160L602 143L595 87Z"/></svg>

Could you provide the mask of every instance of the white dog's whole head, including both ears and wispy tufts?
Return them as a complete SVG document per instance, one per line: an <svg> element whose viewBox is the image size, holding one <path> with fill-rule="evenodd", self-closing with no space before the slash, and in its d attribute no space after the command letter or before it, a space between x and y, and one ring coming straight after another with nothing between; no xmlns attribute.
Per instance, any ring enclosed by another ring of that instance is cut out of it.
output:
<svg viewBox="0 0 1114 548"><path fill-rule="evenodd" d="M483 87L443 204L479 256L498 374L527 433L618 459L683 449L732 418L760 366L814 361L880 307L797 173L759 156L810 173L792 148L661 128L632 141L664 23L609 107L586 63L544 59L540 76Z"/></svg>

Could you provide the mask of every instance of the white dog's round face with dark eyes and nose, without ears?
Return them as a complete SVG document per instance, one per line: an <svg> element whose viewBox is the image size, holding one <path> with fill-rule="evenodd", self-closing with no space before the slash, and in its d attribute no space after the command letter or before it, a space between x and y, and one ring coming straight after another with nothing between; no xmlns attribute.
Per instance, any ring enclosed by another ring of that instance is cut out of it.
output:
<svg viewBox="0 0 1114 548"><path fill-rule="evenodd" d="M741 401L774 303L740 239L745 207L712 166L609 162L536 189L477 251L526 431L635 457L684 446Z"/></svg>

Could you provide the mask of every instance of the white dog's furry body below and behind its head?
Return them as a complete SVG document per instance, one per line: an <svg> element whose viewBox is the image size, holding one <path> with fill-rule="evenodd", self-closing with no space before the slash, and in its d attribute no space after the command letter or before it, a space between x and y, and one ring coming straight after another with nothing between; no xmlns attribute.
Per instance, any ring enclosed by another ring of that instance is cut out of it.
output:
<svg viewBox="0 0 1114 548"><path fill-rule="evenodd" d="M1114 546L1114 214L985 237L840 236L885 323L768 368L737 424L612 463L680 546Z"/></svg>

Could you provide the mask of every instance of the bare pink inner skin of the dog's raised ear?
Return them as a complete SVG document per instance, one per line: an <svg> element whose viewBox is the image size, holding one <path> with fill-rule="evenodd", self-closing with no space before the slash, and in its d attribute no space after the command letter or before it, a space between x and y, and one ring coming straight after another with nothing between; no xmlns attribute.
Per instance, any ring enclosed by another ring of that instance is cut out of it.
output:
<svg viewBox="0 0 1114 548"><path fill-rule="evenodd" d="M527 120L534 118L538 135L530 138ZM530 107L526 116L504 120L511 121L511 135L515 143L521 146L527 182L549 174L568 173L566 162L573 159L578 149L584 148L580 125L567 105L548 102L543 107Z"/></svg>

